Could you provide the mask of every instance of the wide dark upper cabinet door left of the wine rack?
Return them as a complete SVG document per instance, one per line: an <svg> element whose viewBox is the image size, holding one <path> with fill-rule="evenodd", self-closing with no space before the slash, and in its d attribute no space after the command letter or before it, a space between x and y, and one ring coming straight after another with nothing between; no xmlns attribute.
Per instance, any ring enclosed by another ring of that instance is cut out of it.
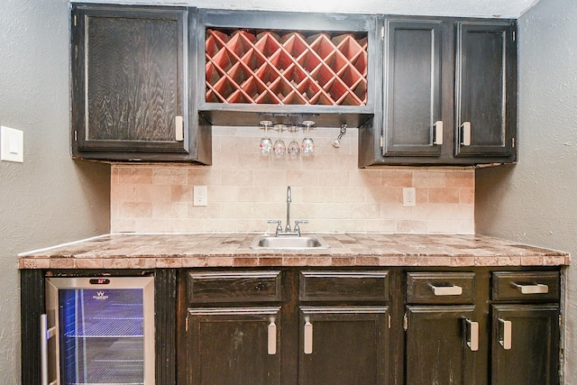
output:
<svg viewBox="0 0 577 385"><path fill-rule="evenodd" d="M72 23L73 151L188 152L188 10L78 5Z"/></svg>

